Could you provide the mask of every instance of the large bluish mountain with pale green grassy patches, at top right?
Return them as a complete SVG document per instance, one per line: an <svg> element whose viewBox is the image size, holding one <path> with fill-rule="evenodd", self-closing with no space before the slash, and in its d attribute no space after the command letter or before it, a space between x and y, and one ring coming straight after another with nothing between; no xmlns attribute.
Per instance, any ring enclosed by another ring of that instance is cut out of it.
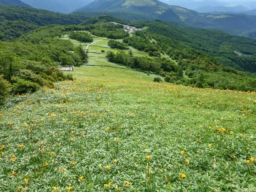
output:
<svg viewBox="0 0 256 192"><path fill-rule="evenodd" d="M256 16L245 14L202 14L158 0L97 0L76 10L86 16L107 15L130 21L161 19L180 24L216 29L233 35L256 31Z"/></svg>

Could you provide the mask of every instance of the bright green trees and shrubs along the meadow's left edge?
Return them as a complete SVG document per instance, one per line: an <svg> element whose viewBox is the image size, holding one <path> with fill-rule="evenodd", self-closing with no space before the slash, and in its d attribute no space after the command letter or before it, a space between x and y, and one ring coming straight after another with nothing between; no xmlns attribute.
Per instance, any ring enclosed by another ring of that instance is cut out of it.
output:
<svg viewBox="0 0 256 192"><path fill-rule="evenodd" d="M59 70L62 65L79 66L87 61L81 47L59 36L72 26L45 26L23 35L19 40L0 42L0 104L8 95L32 93L54 82L72 80Z"/></svg>

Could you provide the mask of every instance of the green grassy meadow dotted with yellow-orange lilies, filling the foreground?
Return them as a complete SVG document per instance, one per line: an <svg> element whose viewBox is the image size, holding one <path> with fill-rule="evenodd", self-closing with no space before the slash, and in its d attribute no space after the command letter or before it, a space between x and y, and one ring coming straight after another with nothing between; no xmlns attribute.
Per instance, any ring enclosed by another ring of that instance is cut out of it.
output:
<svg viewBox="0 0 256 192"><path fill-rule="evenodd" d="M88 64L124 69L75 67L0 109L0 191L256 191L255 93L155 83L105 54Z"/></svg>

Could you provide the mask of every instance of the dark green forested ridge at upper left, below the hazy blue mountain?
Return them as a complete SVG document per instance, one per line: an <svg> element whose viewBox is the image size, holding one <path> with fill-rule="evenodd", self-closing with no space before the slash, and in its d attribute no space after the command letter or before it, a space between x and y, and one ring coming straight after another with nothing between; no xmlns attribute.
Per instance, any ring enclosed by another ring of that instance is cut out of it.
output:
<svg viewBox="0 0 256 192"><path fill-rule="evenodd" d="M0 40L12 40L38 26L79 24L86 16L55 13L32 7L0 6Z"/></svg>

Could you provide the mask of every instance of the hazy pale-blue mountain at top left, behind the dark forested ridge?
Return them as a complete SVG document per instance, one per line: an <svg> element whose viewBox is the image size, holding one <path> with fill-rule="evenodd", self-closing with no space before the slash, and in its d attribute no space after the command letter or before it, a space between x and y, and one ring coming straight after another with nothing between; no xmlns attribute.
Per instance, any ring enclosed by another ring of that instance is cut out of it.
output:
<svg viewBox="0 0 256 192"><path fill-rule="evenodd" d="M79 7L83 7L90 2L93 2L93 0L23 0L23 2L38 9L70 13Z"/></svg>

